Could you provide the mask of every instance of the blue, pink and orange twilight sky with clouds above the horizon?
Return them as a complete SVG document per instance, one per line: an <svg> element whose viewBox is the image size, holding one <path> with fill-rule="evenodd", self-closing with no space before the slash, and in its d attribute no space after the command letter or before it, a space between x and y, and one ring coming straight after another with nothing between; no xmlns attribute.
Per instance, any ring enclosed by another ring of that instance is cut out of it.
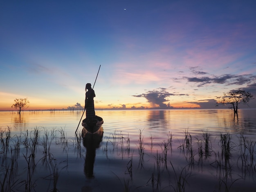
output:
<svg viewBox="0 0 256 192"><path fill-rule="evenodd" d="M15 98L31 110L84 107L100 66L96 109L209 109L231 90L256 96L255 10L252 0L1 1L0 110Z"/></svg>

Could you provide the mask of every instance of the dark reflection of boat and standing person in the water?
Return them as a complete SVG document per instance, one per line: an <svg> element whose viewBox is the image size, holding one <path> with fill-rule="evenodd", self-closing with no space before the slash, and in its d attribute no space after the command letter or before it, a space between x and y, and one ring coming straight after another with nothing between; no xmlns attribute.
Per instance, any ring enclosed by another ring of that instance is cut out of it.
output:
<svg viewBox="0 0 256 192"><path fill-rule="evenodd" d="M100 147L103 137L103 128L101 127L94 134L89 133L85 128L82 131L83 146L86 148L84 174L88 179L93 179L93 167L96 156L96 149Z"/></svg>

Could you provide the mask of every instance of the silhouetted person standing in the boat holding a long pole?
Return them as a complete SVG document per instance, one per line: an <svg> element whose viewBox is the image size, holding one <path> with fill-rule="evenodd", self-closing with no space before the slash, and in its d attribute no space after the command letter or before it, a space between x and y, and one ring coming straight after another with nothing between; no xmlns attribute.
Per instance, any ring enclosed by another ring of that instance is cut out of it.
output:
<svg viewBox="0 0 256 192"><path fill-rule="evenodd" d="M86 91L88 90L88 91ZM86 119L88 122L95 117L95 110L94 110L94 100L95 97L94 90L92 89L92 85L87 83L85 86L85 109L86 109Z"/></svg>

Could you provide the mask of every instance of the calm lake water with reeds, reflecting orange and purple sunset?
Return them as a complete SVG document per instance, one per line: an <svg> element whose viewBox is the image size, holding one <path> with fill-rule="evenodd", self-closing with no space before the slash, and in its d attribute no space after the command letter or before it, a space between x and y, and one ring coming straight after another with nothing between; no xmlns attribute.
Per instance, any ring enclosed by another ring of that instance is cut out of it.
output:
<svg viewBox="0 0 256 192"><path fill-rule="evenodd" d="M75 135L82 114L0 112L1 188L256 191L256 109L101 110Z"/></svg>

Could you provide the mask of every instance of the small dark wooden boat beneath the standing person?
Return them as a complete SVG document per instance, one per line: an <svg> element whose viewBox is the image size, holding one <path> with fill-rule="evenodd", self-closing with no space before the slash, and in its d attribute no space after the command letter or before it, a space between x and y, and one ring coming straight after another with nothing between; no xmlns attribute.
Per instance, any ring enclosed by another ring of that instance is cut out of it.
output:
<svg viewBox="0 0 256 192"><path fill-rule="evenodd" d="M100 116L95 116L89 122L87 118L83 119L82 126L90 133L95 133L99 130L101 125L103 124L103 118Z"/></svg>

